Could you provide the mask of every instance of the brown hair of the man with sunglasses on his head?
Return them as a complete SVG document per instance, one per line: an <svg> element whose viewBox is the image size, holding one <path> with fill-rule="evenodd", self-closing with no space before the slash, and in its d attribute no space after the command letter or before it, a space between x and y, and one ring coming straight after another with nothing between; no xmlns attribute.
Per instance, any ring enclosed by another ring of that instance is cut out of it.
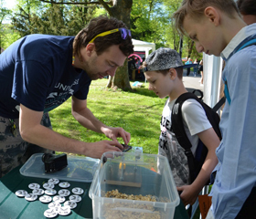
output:
<svg viewBox="0 0 256 219"><path fill-rule="evenodd" d="M80 30L75 37L73 42L73 55L78 55L80 57L80 49L86 47L93 37L102 32L121 27L127 29L127 26L124 25L123 21L113 17L98 16L91 19L89 25ZM94 39L93 43L95 44L98 56L113 45L119 45L120 50L126 57L133 53L132 37L127 36L126 39L123 39L120 31L106 36L98 36Z"/></svg>

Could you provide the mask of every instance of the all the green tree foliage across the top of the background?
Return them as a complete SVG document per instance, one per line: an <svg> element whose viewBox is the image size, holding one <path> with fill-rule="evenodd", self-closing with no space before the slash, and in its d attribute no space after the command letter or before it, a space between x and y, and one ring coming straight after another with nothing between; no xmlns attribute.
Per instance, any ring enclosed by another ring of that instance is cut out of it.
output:
<svg viewBox="0 0 256 219"><path fill-rule="evenodd" d="M117 18L124 16L124 13L122 16L122 1L17 0L17 2L12 16L12 26L20 36L35 33L74 36L93 16L107 13L111 16L121 14ZM178 51L180 36L172 26L172 15L181 2L182 0L133 0L130 24L128 22L133 38L155 43L156 48L172 47ZM130 0L126 0L125 3L131 5ZM125 6L127 5L123 4L123 8ZM0 11L0 18L1 15L3 13ZM187 36L183 37L183 57L201 57Z"/></svg>

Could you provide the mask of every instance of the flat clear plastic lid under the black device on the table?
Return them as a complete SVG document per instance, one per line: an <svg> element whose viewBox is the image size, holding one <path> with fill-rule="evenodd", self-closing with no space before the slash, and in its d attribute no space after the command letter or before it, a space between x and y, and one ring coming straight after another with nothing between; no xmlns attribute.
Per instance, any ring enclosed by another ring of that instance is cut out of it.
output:
<svg viewBox="0 0 256 219"><path fill-rule="evenodd" d="M94 172L100 160L90 157L68 156L68 166L59 172L45 172L45 164L42 162L43 153L33 154L20 168L19 172L24 176L36 178L58 178L63 181L75 181L91 183Z"/></svg>

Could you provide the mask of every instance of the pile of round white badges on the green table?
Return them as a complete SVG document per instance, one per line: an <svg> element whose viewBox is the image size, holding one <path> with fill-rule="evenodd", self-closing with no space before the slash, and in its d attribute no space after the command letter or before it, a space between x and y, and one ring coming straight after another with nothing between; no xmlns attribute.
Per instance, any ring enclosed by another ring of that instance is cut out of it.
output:
<svg viewBox="0 0 256 219"><path fill-rule="evenodd" d="M61 188L59 191L54 189L57 184ZM26 190L18 190L16 191L16 196L25 197L28 202L36 201L37 197L40 196L39 201L41 203L48 203L48 210L44 213L46 217L53 218L58 214L66 216L81 201L80 194L84 193L83 189L75 187L72 189L71 194L67 189L69 186L70 184L68 182L59 183L59 179L53 178L49 179L48 183L43 184L44 189L41 189L38 183L30 183L28 188L32 190L32 193L27 193ZM68 196L69 200L66 200Z"/></svg>

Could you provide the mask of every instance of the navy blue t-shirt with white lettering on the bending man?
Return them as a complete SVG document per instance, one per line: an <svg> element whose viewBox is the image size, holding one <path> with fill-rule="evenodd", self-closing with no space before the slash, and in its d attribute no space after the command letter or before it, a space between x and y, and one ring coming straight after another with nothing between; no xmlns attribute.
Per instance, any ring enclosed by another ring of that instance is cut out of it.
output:
<svg viewBox="0 0 256 219"><path fill-rule="evenodd" d="M48 112L74 96L87 99L91 78L72 66L74 36L29 35L0 55L0 116L16 119L18 106Z"/></svg>

